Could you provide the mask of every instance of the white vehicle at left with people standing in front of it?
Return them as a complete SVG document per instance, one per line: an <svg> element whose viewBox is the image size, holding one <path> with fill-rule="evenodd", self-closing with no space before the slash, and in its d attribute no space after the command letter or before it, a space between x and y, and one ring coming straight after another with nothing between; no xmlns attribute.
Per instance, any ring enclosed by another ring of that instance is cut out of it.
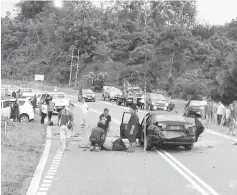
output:
<svg viewBox="0 0 237 195"><path fill-rule="evenodd" d="M41 113L42 102L46 99L47 95L51 96L53 98L53 102L55 103L54 113L59 113L63 108L68 106L69 102L71 102L71 100L66 97L65 93L62 92L44 93L42 94L41 99L38 103L40 113Z"/></svg>

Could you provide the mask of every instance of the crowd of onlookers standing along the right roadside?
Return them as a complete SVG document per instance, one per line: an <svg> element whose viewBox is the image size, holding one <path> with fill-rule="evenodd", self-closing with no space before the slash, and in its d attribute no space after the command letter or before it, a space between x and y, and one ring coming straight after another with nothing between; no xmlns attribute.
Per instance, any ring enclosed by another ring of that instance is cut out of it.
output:
<svg viewBox="0 0 237 195"><path fill-rule="evenodd" d="M235 135L237 130L237 101L223 105L221 101L215 102L204 98L201 102L202 119L208 126L210 123L229 128L229 134Z"/></svg>

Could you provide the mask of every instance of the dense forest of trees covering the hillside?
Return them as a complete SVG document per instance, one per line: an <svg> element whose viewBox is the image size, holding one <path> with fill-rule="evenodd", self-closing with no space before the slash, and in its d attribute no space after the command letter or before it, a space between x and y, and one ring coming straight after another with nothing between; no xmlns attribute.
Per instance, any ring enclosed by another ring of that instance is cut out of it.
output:
<svg viewBox="0 0 237 195"><path fill-rule="evenodd" d="M194 1L22 1L2 23L2 78L68 84L124 80L176 97L237 96L237 18L223 26L196 22ZM74 51L74 52L73 52Z"/></svg>

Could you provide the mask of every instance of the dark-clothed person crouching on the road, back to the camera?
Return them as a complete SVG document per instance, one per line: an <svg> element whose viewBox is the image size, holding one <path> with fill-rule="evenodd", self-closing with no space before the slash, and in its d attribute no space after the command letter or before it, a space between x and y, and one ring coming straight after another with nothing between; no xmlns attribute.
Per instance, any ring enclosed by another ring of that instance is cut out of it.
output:
<svg viewBox="0 0 237 195"><path fill-rule="evenodd" d="M104 131L104 124L99 122L97 124L97 127L93 128L91 130L91 135L89 137L91 142L90 151L97 151L99 152L101 150L101 147L103 146L103 143L105 141L105 131Z"/></svg>

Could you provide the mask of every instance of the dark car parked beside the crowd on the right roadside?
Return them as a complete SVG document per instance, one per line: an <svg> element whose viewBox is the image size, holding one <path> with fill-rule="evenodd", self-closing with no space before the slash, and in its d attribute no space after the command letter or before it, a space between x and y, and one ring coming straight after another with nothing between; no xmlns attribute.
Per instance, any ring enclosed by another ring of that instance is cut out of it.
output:
<svg viewBox="0 0 237 195"><path fill-rule="evenodd" d="M184 108L184 116L201 116L201 102L200 100L189 101Z"/></svg>

